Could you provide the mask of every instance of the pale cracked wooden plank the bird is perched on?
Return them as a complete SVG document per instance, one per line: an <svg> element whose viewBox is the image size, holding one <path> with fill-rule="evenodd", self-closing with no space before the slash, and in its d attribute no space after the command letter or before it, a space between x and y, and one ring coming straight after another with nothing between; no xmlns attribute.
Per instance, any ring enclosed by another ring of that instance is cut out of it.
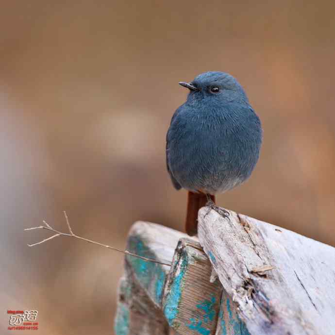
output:
<svg viewBox="0 0 335 335"><path fill-rule="evenodd" d="M198 237L248 331L335 334L335 249L229 212L202 208Z"/></svg>

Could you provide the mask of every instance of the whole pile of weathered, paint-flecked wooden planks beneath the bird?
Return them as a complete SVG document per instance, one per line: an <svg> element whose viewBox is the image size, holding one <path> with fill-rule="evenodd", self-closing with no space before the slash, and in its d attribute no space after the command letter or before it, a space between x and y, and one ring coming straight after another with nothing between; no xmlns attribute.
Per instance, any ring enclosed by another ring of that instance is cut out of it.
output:
<svg viewBox="0 0 335 335"><path fill-rule="evenodd" d="M126 255L117 335L335 334L334 248L205 207L198 230L133 225L127 250L158 263Z"/></svg>

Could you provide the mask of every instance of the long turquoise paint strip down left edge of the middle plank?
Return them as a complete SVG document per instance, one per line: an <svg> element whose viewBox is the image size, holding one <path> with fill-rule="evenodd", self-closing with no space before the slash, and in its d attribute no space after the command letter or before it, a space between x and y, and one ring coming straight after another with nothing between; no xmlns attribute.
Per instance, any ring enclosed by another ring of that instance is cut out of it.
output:
<svg viewBox="0 0 335 335"><path fill-rule="evenodd" d="M169 294L164 306L164 315L168 320L170 326L173 325L174 319L178 315L178 306L182 296L182 290L184 285L184 274L188 265L185 254L181 255L183 257L182 263L180 265L179 274L174 278L172 285L169 290ZM177 266L175 264L174 266Z"/></svg>

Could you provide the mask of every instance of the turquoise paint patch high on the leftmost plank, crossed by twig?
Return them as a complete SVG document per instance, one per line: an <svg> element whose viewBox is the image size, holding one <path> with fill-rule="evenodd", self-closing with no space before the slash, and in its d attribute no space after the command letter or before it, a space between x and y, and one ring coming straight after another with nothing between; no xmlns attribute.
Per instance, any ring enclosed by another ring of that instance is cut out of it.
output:
<svg viewBox="0 0 335 335"><path fill-rule="evenodd" d="M138 237L132 236L128 240L127 250L137 255L155 259L155 254ZM166 273L163 266L144 259L127 255L127 260L134 269L136 278L159 305L162 302Z"/></svg>

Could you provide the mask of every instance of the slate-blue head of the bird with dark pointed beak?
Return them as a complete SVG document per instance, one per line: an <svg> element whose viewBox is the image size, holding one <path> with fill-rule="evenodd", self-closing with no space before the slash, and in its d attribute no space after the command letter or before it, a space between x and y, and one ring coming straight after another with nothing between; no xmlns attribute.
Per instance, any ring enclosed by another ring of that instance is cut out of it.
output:
<svg viewBox="0 0 335 335"><path fill-rule="evenodd" d="M225 72L204 72L190 83L180 82L179 84L190 90L187 99L248 103L243 87L233 76Z"/></svg>

